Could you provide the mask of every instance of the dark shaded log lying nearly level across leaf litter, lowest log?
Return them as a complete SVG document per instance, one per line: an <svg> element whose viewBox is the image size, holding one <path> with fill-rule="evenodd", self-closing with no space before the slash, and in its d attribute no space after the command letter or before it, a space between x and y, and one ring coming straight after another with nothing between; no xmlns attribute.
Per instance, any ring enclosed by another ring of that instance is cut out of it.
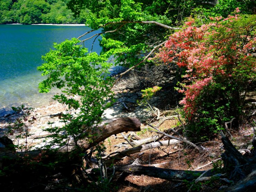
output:
<svg viewBox="0 0 256 192"><path fill-rule="evenodd" d="M111 172L112 168L108 168ZM127 172L135 175L147 175L151 177L157 177L166 180L188 180L192 181L198 178L205 171L186 171L186 170L172 170L151 166L141 166L141 165L126 165L126 166L115 166L116 172ZM92 173L97 173L98 169L92 169ZM205 176L212 176L214 172L208 171Z"/></svg>

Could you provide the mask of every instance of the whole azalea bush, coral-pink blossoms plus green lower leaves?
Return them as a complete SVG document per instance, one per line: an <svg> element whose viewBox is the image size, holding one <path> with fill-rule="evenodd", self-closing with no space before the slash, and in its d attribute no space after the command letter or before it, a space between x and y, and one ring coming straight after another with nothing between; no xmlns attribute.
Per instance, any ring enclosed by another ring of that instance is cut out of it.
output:
<svg viewBox="0 0 256 192"><path fill-rule="evenodd" d="M223 122L239 120L248 86L255 82L255 15L210 18L196 27L189 18L172 34L155 59L176 63L183 71L180 104L195 134L209 138Z"/></svg>

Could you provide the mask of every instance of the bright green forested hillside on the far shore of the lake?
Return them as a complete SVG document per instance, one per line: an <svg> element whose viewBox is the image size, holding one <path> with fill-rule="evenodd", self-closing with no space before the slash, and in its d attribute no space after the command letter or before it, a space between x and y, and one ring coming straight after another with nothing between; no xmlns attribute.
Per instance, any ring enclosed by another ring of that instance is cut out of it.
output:
<svg viewBox="0 0 256 192"><path fill-rule="evenodd" d="M0 0L0 24L84 23L87 14L74 17L66 0Z"/></svg>

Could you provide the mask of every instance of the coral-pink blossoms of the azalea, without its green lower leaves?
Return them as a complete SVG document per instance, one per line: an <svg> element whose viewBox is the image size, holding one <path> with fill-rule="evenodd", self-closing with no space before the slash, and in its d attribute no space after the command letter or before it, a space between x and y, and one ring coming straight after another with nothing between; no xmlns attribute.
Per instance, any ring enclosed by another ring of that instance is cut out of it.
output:
<svg viewBox="0 0 256 192"><path fill-rule="evenodd" d="M184 104L188 119L197 109L196 98L210 82L234 78L237 71L245 68L255 72L255 63L249 62L250 52L256 46L256 37L250 33L252 26L239 29L239 25L233 25L239 21L239 15L210 19L215 22L194 27L194 19L190 18L183 30L172 34L156 55L164 63L175 62L186 68L184 77L192 84L180 90L185 93L180 103Z"/></svg>

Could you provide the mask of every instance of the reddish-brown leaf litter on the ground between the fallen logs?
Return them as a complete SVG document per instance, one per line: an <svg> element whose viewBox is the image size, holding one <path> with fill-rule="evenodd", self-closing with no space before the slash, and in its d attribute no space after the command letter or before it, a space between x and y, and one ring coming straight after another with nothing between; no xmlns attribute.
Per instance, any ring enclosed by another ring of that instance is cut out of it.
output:
<svg viewBox="0 0 256 192"><path fill-rule="evenodd" d="M172 119L166 120L159 128L161 131L177 127L179 120ZM152 124L156 125L156 122ZM141 126L141 131L137 132L141 138L149 138L156 135L154 132L150 132L152 128L148 125L143 124ZM244 155L248 155L247 150L251 149L252 145L252 134L253 130L250 125L245 124L240 127L239 130L231 130L233 136L232 143L237 149L241 151ZM121 138L121 134L111 136L106 139L104 144L106 146L106 154L110 154L117 150L120 143L127 143L124 138ZM168 140L168 138L163 138L161 140ZM144 166L155 166L160 168L168 168L174 170L198 170L205 171L213 168L213 166L219 166L222 163L220 160L220 155L223 153L223 145L221 143L221 137L217 137L214 140L207 141L204 143L198 143L197 145L202 145L206 148L205 151L199 153L196 149L191 146L187 146L184 143L163 146L161 148L153 148L144 151L143 153L138 153L131 155L131 157L125 157L122 161L118 162L117 165L130 165L134 162L134 159L139 159L140 164ZM123 145L122 150L131 148L129 144ZM206 166L205 166L206 165ZM202 168L200 168L202 167ZM225 182L224 182L225 184ZM133 192L133 191L188 191L191 183L186 182L172 182L164 179L159 179L155 177L150 177L146 175L128 175L122 182L119 183L118 192ZM202 191L216 191L223 185L219 181L212 183L211 188L209 186L200 186ZM196 185L195 185L196 187ZM198 186L199 187L199 186Z"/></svg>

